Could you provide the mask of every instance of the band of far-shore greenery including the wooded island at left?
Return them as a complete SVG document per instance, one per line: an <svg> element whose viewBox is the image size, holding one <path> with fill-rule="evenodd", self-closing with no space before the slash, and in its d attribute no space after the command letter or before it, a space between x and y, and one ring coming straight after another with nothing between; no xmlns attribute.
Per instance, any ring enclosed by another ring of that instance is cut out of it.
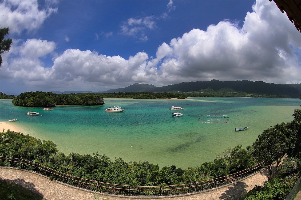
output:
<svg viewBox="0 0 301 200"><path fill-rule="evenodd" d="M2 92L1 92L2 93ZM0 94L1 94L0 93ZM301 95L301 94L300 94ZM291 98L287 95L258 95L245 92L113 92L113 93L70 93L24 92L16 97L0 95L0 99L12 99L13 105L24 107L54 107L56 105L104 105L104 98L133 99L185 99L188 97L253 97L253 98Z"/></svg>

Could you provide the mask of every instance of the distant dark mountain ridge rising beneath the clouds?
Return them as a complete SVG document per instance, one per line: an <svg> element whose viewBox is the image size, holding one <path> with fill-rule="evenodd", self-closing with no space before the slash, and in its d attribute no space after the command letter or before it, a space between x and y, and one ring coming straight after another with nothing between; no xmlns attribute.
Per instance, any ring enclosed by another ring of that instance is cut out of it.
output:
<svg viewBox="0 0 301 200"><path fill-rule="evenodd" d="M103 92L91 93L113 93L113 92L196 92L210 88L213 91L231 90L235 92L247 92L268 95L289 95L292 98L299 98L301 93L301 83L296 84L275 84L263 81L236 80L236 81L197 81L189 83L178 83L168 86L156 87L154 85L135 83L125 88L110 89ZM71 91L60 93L82 93L88 91ZM58 93L58 91L53 92Z"/></svg>

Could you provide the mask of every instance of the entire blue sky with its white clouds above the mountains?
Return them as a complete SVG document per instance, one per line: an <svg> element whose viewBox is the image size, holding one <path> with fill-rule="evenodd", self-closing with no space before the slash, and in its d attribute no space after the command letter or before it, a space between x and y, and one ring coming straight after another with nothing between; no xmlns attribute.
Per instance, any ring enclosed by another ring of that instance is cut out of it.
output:
<svg viewBox="0 0 301 200"><path fill-rule="evenodd" d="M301 34L269 1L0 1L0 91L301 83Z"/></svg>

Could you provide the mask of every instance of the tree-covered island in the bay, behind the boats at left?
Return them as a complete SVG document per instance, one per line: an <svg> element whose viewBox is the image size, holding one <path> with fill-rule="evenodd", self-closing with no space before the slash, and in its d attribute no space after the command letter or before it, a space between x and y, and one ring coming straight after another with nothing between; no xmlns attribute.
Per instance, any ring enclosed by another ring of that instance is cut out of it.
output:
<svg viewBox="0 0 301 200"><path fill-rule="evenodd" d="M13 104L26 107L55 105L103 105L104 98L94 93L55 94L52 92L24 92L13 99Z"/></svg>

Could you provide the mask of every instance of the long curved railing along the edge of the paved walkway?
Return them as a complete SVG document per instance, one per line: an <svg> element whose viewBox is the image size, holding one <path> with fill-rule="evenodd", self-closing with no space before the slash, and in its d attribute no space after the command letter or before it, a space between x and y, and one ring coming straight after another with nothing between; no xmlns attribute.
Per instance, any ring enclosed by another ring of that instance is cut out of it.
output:
<svg viewBox="0 0 301 200"><path fill-rule="evenodd" d="M70 174L65 174L60 171L45 167L35 162L28 160L0 156L0 166L9 166L50 177L52 180L58 180L72 186L96 191L107 194L126 195L126 196L164 196L164 195L180 195L189 194L192 192L200 192L207 189L213 189L236 180L245 178L263 168L263 165L257 164L245 170L230 174L228 176L219 177L211 180L206 180L197 183L187 183L181 185L169 186L130 186L118 185L112 183L102 183L95 180L88 180Z"/></svg>

